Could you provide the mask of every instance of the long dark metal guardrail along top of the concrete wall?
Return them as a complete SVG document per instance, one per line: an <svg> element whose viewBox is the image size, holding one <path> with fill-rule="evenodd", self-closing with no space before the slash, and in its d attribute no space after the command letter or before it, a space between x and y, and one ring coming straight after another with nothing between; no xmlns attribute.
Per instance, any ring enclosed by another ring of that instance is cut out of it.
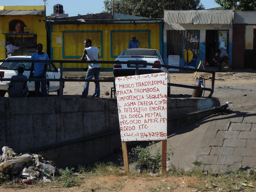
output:
<svg viewBox="0 0 256 192"><path fill-rule="evenodd" d="M63 63L100 63L100 64L135 64L135 75L139 74L139 64L146 64L150 66L159 66L159 67L166 67L167 69L183 69L188 71L199 71L204 73L212 73L212 83L211 88L203 88L203 87L197 87L197 86L190 86L190 85L180 85L175 83L168 83L170 86L177 86L177 87L183 87L183 88L191 88L191 89L200 89L200 90L206 90L210 91L209 98L213 95L214 92L214 80L215 80L215 71L210 70L204 70L204 69L194 69L194 68L188 68L188 67L177 67L177 66L169 66L169 65L162 65L162 64L153 64L153 63L145 63L140 61L72 61L72 60L25 60L25 59L17 59L17 60L3 60L0 59L0 62L45 62L45 63L59 63L60 64L60 79L34 79L29 78L27 81L59 81L60 82L60 91L59 96L63 95L63 82L65 81L89 81L89 82L113 82L113 80L85 80L85 79L63 79ZM1 71L1 69L0 69ZM2 78L0 77L0 81L10 81L10 78Z"/></svg>

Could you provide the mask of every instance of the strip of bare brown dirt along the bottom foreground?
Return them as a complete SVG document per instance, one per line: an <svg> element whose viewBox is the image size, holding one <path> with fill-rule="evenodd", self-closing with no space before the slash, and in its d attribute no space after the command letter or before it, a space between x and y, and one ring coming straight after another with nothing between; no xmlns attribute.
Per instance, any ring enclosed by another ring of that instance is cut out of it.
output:
<svg viewBox="0 0 256 192"><path fill-rule="evenodd" d="M199 182L190 177L176 176L146 176L146 177L129 177L129 176L98 176L90 179L80 177L80 186L61 187L58 184L48 183L45 185L21 185L19 188L0 187L1 192L155 192L155 191L172 191L172 192L192 192L197 191L194 186Z"/></svg>

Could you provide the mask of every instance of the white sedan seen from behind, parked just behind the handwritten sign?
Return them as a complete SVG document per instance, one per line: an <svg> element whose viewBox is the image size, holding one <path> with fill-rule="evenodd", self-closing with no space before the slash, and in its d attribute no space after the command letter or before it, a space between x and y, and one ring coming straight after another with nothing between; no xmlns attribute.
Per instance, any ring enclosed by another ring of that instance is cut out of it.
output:
<svg viewBox="0 0 256 192"><path fill-rule="evenodd" d="M165 65L163 58L156 49L144 49L144 48L134 48L125 49L115 61L140 61L148 62L152 64L162 64ZM118 76L130 76L135 75L135 64L114 64L113 74L114 77ZM170 83L170 75L166 67L160 66L149 66L146 64L139 64L138 66L139 74L149 74L149 73L163 73L168 74L168 83ZM168 86L168 95L170 95L170 86Z"/></svg>

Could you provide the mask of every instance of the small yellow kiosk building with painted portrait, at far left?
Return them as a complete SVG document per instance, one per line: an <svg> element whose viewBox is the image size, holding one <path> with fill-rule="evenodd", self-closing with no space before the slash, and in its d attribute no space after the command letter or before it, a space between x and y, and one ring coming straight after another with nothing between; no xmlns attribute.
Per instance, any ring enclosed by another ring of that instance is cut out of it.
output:
<svg viewBox="0 0 256 192"><path fill-rule="evenodd" d="M0 59L7 57L7 43L20 47L14 55L32 55L37 43L47 52L45 21L45 6L0 6Z"/></svg>

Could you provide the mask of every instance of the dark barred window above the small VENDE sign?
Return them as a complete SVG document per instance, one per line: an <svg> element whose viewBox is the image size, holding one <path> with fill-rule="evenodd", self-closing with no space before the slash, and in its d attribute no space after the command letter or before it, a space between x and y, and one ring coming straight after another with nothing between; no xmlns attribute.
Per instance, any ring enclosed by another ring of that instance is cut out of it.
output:
<svg viewBox="0 0 256 192"><path fill-rule="evenodd" d="M180 55L186 49L192 50L199 57L199 30L167 30L167 55Z"/></svg>

